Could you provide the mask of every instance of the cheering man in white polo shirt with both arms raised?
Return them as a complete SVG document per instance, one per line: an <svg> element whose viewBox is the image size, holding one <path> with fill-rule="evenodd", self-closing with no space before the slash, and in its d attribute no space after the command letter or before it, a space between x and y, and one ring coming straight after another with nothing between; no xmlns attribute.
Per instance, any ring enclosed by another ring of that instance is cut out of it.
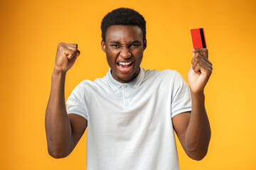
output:
<svg viewBox="0 0 256 170"><path fill-rule="evenodd" d="M58 45L46 109L49 154L67 157L87 128L87 170L179 169L175 130L188 157L203 159L210 142L203 94L212 72L208 50L192 50L188 87L174 70L139 67L146 21L137 11L117 8L103 18L101 28L110 70L102 79L76 86L68 111L65 73L80 52L76 44Z"/></svg>

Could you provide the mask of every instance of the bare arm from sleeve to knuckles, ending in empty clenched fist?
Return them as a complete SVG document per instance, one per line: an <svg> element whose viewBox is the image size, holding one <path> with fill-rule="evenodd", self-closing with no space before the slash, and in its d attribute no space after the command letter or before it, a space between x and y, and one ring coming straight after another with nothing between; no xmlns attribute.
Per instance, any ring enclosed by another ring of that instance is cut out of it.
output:
<svg viewBox="0 0 256 170"><path fill-rule="evenodd" d="M58 45L45 122L48 153L55 158L67 157L87 127L85 118L68 115L65 108L65 74L79 55L76 44Z"/></svg>

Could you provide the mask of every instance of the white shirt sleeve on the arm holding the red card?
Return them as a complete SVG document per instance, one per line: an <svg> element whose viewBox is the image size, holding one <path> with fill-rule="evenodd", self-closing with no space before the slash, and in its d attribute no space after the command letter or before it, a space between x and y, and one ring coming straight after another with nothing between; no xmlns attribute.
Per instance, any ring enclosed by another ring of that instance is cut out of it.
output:
<svg viewBox="0 0 256 170"><path fill-rule="evenodd" d="M191 111L191 92L181 74L174 76L173 91L171 96L171 118L179 113Z"/></svg>

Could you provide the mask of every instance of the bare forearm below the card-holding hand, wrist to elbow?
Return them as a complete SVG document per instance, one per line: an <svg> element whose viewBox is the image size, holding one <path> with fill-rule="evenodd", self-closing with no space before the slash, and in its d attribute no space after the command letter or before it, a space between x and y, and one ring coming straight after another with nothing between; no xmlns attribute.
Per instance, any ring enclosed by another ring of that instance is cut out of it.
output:
<svg viewBox="0 0 256 170"><path fill-rule="evenodd" d="M192 111L185 136L186 153L192 159L200 160L206 156L210 142L210 123L205 108L203 93L191 92Z"/></svg>

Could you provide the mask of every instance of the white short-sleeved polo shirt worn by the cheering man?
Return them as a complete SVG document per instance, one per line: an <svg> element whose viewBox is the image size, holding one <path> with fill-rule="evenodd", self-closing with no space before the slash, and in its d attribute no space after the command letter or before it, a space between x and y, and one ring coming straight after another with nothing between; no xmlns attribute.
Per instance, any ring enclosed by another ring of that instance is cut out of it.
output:
<svg viewBox="0 0 256 170"><path fill-rule="evenodd" d="M82 81L67 106L87 120L87 170L179 169L171 118L191 111L191 94L178 72L140 68L122 84L109 71Z"/></svg>

